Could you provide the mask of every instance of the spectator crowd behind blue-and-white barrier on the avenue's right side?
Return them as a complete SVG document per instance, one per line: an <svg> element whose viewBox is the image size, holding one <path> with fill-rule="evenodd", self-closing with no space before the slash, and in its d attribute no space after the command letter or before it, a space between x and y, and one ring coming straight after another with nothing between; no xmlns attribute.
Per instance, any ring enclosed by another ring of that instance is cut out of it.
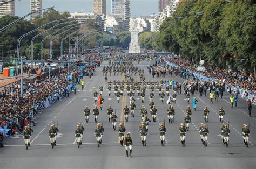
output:
<svg viewBox="0 0 256 169"><path fill-rule="evenodd" d="M160 65L159 70L163 72L179 72L180 76L189 80L225 83L225 90L230 94L238 94L248 102L256 104L256 83L253 74L250 75L239 71L228 71L227 69L205 69L197 71L193 64L186 59L174 59L172 55L160 57L156 60ZM162 70L161 70L162 69Z"/></svg>

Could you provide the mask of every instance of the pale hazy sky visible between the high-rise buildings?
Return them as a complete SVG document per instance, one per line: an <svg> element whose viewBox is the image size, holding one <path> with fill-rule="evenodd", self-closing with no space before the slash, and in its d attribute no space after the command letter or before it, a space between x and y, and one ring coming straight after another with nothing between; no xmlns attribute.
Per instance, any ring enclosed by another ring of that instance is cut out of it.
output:
<svg viewBox="0 0 256 169"><path fill-rule="evenodd" d="M111 13L111 0L107 1L107 14ZM158 12L158 0L130 0L131 17L146 16ZM43 8L55 6L64 12L91 12L93 0L43 0ZM16 15L24 16L30 12L30 0L16 0Z"/></svg>

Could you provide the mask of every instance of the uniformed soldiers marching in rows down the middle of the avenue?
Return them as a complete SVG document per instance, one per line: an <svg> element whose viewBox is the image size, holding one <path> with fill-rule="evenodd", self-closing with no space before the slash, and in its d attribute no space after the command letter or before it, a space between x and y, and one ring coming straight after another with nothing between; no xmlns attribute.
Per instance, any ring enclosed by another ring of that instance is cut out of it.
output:
<svg viewBox="0 0 256 169"><path fill-rule="evenodd" d="M121 110L121 117L117 116L116 110L112 108L112 105L109 105L106 109L106 114L108 118L108 122L112 123L113 131L118 131L117 136L120 143L120 146L124 146L126 150L126 156L132 157L132 138L131 138L131 132L126 132L125 125L126 123L130 122L130 118L136 118L136 114L139 115L139 133L140 138L142 140L142 146L147 145L147 135L149 134L149 126L150 123L156 123L159 122L159 137L160 137L160 143L161 146L165 146L166 142L166 124L165 119L164 121L160 122L158 121L158 110L156 107L156 104L154 101L156 99L160 100L160 103L163 104L163 107L166 107L166 119L168 119L167 123L169 125L174 125L174 118L176 115L176 111L174 110L173 105L176 104L177 97L184 97L184 100L186 100L187 104L190 104L190 98L193 98L193 111L197 110L197 104L198 100L196 97L194 97L194 90L191 88L200 88L200 95L203 95L204 89L200 86L200 84L196 84L195 86L193 83L191 85L190 82L184 80L183 86L184 86L184 95L181 96L181 84L178 83L177 80L167 79L163 78L160 81L158 80L146 80L144 75L144 69L139 69L138 66L134 66L134 61L140 61L143 60L143 57L127 57L123 59L122 61L118 61L117 59L109 60L109 66L103 66L102 69L102 75L105 78L105 86L107 90L107 95L104 95L104 97L110 97L114 95L117 99L117 101L112 100L113 104L119 104L120 98L123 96L128 96L130 98L130 104L125 104L124 107ZM151 65L148 67L149 73L152 74L155 72L157 67L157 64ZM122 80L108 80L108 76L118 76L121 75L123 78ZM138 76L138 77L136 77ZM153 75L152 75L153 76ZM154 76L153 76L154 77ZM112 93L113 89L113 93ZM104 104L104 98L103 98L103 90L104 87L102 85L99 85L97 89L92 91L92 97L95 101L96 105L93 105L93 108L90 110L88 108L88 105L84 108L84 119L85 123L90 122L90 116L91 111L94 118L94 122L96 123L95 132L94 135L97 140L98 147L102 144L103 140L103 134L104 134L104 128L103 128L103 121L99 121L99 117L102 116L100 112L105 111L103 109ZM155 92L157 91L158 95L155 96ZM173 91L172 91L173 90ZM99 92L99 93L98 93ZM212 91L211 91L212 92ZM172 93L172 94L171 94ZM206 93L206 91L205 91ZM145 96L149 97L149 103L145 103ZM137 99L135 97L138 97ZM218 101L219 95L215 95L214 97L211 97L210 103L213 102L213 100ZM221 94L222 97L222 94ZM138 108L136 106L136 100L140 100L143 105L141 108ZM166 105L165 105L166 103ZM148 113L146 106L144 104L149 105L149 112ZM208 146L208 135L210 134L208 129L208 123L210 123L210 119L208 118L210 113L210 110L205 106L204 110L201 112L202 119L201 121L203 123L199 126L199 135L201 139L201 143L207 147ZM230 129L229 125L230 123L225 121L224 123L224 115L225 110L223 107L220 107L218 110L218 117L219 121L221 123L220 125L220 137L222 139L222 142L226 147L229 145L229 137L230 137ZM187 105L186 112L184 113L184 121L179 122L178 131L177 133L180 136L181 145L185 146L185 139L186 136L188 136L188 132L190 131L190 123L192 122L192 109L190 108L190 105ZM117 126L117 120L120 119L120 123L118 125L118 129L116 129ZM152 121L151 121L151 119ZM212 117L213 118L213 117ZM101 117L100 117L101 119ZM52 149L56 146L56 139L58 135L59 129L58 124L57 125L51 125L49 129L49 138ZM77 142L78 148L80 145L82 145L83 142L83 133L85 132L83 121L76 125L75 128L75 139ZM26 149L30 146L30 138L32 135L32 129L30 126L26 126L24 130L24 141ZM247 122L247 124L244 124L242 126L242 138L244 140L244 143L246 147L248 147L249 143L249 136L250 136L250 124Z"/></svg>

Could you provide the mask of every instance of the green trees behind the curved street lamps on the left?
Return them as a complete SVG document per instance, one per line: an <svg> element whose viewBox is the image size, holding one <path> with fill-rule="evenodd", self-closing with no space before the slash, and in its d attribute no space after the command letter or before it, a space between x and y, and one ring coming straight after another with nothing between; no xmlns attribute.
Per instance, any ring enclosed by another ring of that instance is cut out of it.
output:
<svg viewBox="0 0 256 169"><path fill-rule="evenodd" d="M46 12L43 13L42 16L37 16L35 17L32 22L29 20L22 20L21 22L18 22L17 24L12 25L9 27L7 30L4 32L0 33L0 38L1 38L1 44L0 44L0 50L2 50L2 45L3 46L3 57L16 57L16 51L17 51L17 40L19 37L21 37L23 34L26 32L32 31L33 29L36 29L39 26L42 26L46 23L49 23L53 20L59 20L59 19L66 19L70 17L69 12L64 12L60 14L58 11L54 9L50 9ZM4 16L0 18L0 27L4 27L5 25L8 25L11 22L14 22L14 20L17 20L17 16ZM68 22L70 20L65 20L65 22ZM64 22L64 21L63 21ZM26 36L22 41L21 41L21 55L26 55L28 59L30 59L30 50L31 50L31 39L36 36L36 34L41 33L47 29L50 29L50 27L55 26L59 24L60 22L54 22L49 25L46 25L42 27L42 29L39 29L38 31L30 34L30 36ZM42 34L42 36L38 37L35 39L33 43L33 58L34 59L41 59L41 41L45 36L48 36L49 34L52 34L53 32L56 32L53 34L55 36L56 34L59 34L60 32L63 32L70 27L67 27L66 29L61 29L62 27L70 24L76 24L77 22L74 20L72 23L67 23L67 24L62 24L59 26L54 27L50 31L47 31ZM58 31L59 30L59 31ZM53 49L59 49L60 48L60 41L68 36L68 34L71 34L74 31L77 31L78 28L71 29L70 31L67 31L60 36L56 37L53 39ZM74 34L73 36L79 36L81 34L84 34L85 32L94 32L91 34L91 36L85 38L85 45L87 48L95 48L95 43L98 39L108 36L109 33L102 32L101 27L97 24L97 21L95 19L89 19L86 21L85 24L83 24L80 27L80 30L77 32L77 34ZM116 39L112 41L106 41L104 45L109 46L109 44L116 45L116 46L121 46L121 47L127 47L129 46L131 36L130 32L117 32L116 34ZM52 36L49 36L44 42L44 51L43 55L44 58L48 58L50 55L49 51L49 46L50 46L50 39ZM68 49L69 48L69 39L64 40L63 43L63 48ZM0 51L2 52L2 51ZM67 51L64 51L64 53ZM60 55L60 51L53 51L53 57L57 57Z"/></svg>

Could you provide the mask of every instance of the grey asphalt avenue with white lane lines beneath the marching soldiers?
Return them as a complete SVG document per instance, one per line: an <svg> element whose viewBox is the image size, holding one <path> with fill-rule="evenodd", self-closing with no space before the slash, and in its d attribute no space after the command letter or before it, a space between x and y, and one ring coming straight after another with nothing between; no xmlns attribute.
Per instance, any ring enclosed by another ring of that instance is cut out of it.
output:
<svg viewBox="0 0 256 169"><path fill-rule="evenodd" d="M134 63L134 65L137 65ZM149 61L143 61L138 68L144 68L144 74L147 79L152 79L146 67L150 65ZM123 76L109 76L109 80L122 80ZM139 79L135 76L134 79ZM161 78L155 78L160 81ZM166 77L166 79L169 79ZM173 77L181 84L183 79ZM207 97L198 98L197 111L192 110L192 122L190 131L187 132L186 146L182 147L179 137L178 127L184 121L184 112L187 108L185 95L181 94L177 97L177 103L173 104L176 110L175 121L172 124L167 123L167 106L165 97L164 104L161 103L158 91L154 91L154 103L158 109L157 122L153 121L149 126L149 135L147 136L147 146L143 147L139 135L140 115L139 109L145 105L149 111L149 90L146 90L145 103L142 104L140 97L136 99L135 117L129 116L129 122L125 123L126 132L131 132L133 140L132 158L127 158L125 148L120 147L118 143L118 131L113 131L112 123L109 123L106 109L108 105L116 110L118 122L123 121L122 109L125 104L129 105L130 98L127 91L117 103L114 92L111 96L107 95L107 86L104 86L103 110L100 111L99 120L103 121L105 129L103 143L97 147L96 138L93 135L96 123L93 116L90 116L89 123L84 123L83 110L85 105L92 109L95 105L93 100L93 91L99 88L99 85L105 85L102 76L102 67L97 68L95 76L91 79L85 78L85 88L82 91L78 88L77 94L70 95L69 98L53 104L50 108L43 111L37 117L39 123L32 135L32 142L29 150L25 150L22 136L7 138L7 145L0 149L1 168L255 168L256 166L256 115L255 106L253 105L252 116L247 115L247 103L239 100L238 108L231 108L228 103L229 95L224 94L223 99L219 102L210 104ZM113 88L112 88L113 89ZM170 90L170 94L173 91ZM192 99L189 104L192 107ZM198 131L199 124L204 121L203 109L205 105L210 110L208 129L208 147L201 144ZM223 145L220 134L220 122L217 116L218 109L222 105L226 112L224 119L230 122L230 146ZM150 119L152 117L149 115ZM160 122L166 121L166 140L165 146L162 147L159 139L158 126ZM85 133L83 145L80 149L75 143L75 126L83 120ZM59 136L57 146L51 149L48 136L48 129L53 122L58 121ZM250 122L250 145L245 147L242 137L242 124Z"/></svg>

